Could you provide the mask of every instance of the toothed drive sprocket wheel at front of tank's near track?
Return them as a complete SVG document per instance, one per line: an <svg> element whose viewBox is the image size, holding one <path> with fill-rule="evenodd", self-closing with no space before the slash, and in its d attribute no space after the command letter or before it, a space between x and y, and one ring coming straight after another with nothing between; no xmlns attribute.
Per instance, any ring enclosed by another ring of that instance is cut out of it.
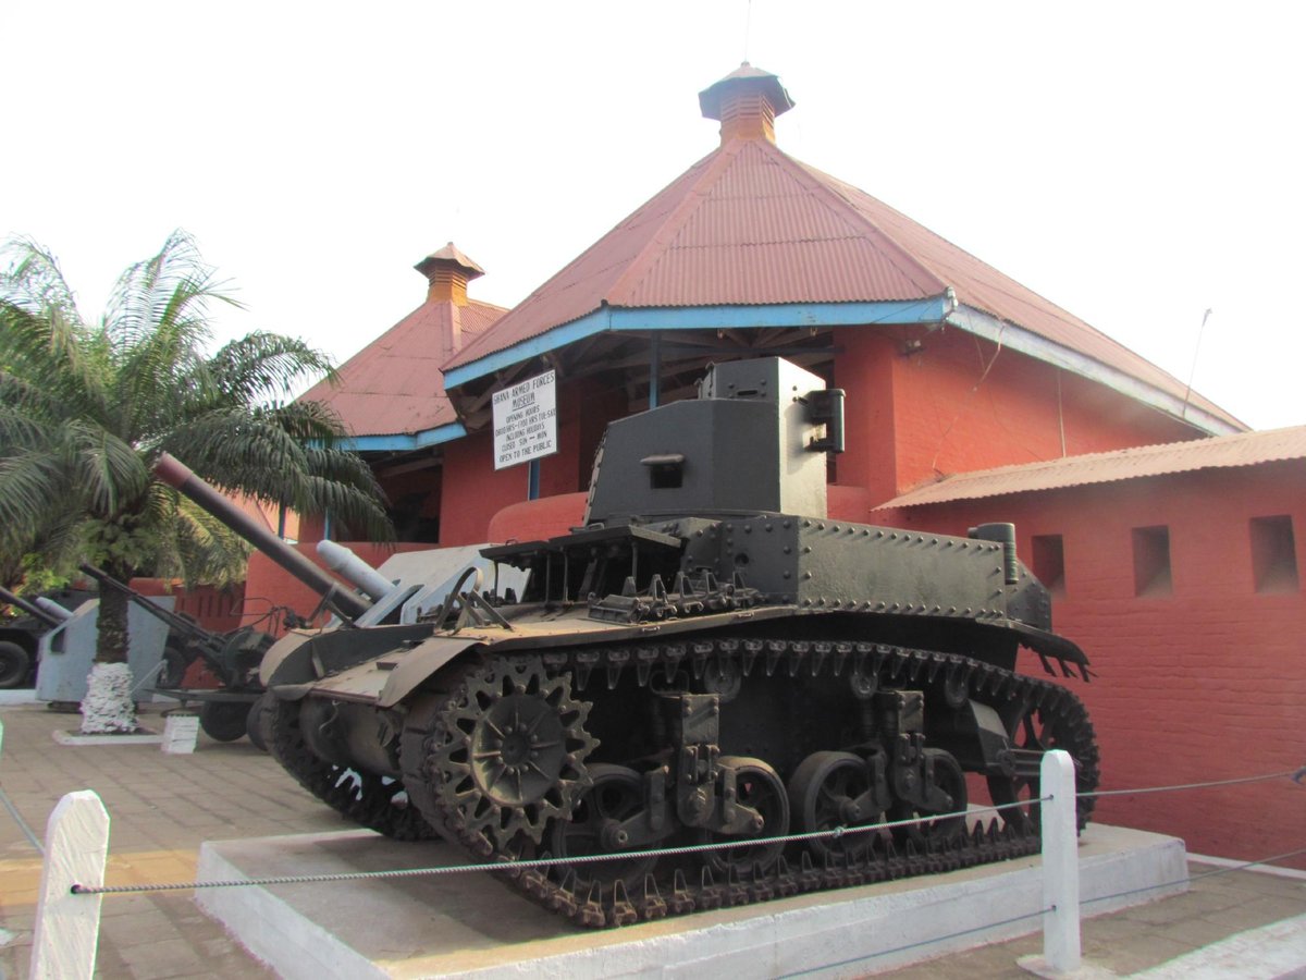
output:
<svg viewBox="0 0 1306 980"><path fill-rule="evenodd" d="M430 775L462 835L505 851L517 834L541 843L589 788L589 702L539 657L496 659L468 674L439 715Z"/></svg>

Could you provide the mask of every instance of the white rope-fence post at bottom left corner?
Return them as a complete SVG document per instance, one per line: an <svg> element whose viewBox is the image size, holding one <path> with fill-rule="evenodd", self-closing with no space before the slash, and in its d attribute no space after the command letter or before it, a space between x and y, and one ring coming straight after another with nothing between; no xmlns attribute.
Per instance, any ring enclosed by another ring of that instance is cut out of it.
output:
<svg viewBox="0 0 1306 980"><path fill-rule="evenodd" d="M31 977L90 980L99 942L99 895L73 895L73 885L103 885L108 813L90 789L67 793L46 825Z"/></svg>

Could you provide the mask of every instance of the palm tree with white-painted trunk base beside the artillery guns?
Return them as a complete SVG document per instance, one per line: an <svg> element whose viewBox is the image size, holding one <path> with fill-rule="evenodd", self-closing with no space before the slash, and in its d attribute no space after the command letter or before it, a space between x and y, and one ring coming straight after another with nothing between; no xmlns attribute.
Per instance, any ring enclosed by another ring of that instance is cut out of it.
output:
<svg viewBox="0 0 1306 980"><path fill-rule="evenodd" d="M340 419L289 400L296 383L330 374L325 354L265 332L208 353L210 307L239 304L187 234L131 265L97 321L81 316L48 251L14 240L3 255L0 567L35 551L121 581L141 571L238 579L244 542L154 478L165 452L223 490L393 536L371 470L337 446ZM104 589L91 676L119 690L93 685L84 732L135 728L125 660L127 600Z"/></svg>

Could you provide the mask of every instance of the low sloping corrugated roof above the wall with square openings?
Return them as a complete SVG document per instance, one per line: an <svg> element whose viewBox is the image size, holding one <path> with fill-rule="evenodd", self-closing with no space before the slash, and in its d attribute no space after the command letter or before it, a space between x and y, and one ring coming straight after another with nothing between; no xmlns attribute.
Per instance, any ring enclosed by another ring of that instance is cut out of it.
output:
<svg viewBox="0 0 1306 980"><path fill-rule="evenodd" d="M1199 469L1255 466L1284 460L1306 460L1306 426L1272 429L1266 433L1238 433L1185 443L1138 446L1113 452L1067 456L1046 463L959 473L936 483L909 490L874 510L1060 490Z"/></svg>

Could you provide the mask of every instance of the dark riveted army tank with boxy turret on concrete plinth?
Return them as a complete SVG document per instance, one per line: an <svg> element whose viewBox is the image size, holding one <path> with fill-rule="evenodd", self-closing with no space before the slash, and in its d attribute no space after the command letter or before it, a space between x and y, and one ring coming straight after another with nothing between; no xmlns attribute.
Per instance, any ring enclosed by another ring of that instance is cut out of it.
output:
<svg viewBox="0 0 1306 980"><path fill-rule="evenodd" d="M413 623L279 640L269 749L355 822L502 861L582 926L1034 852L1043 753L1097 785L1059 682L1088 660L1051 631L1010 524L827 515L842 408L768 358L611 423L582 527L485 549ZM1021 648L1059 677L1019 673ZM965 815L989 801L1019 805ZM853 832L777 840L836 828Z"/></svg>

